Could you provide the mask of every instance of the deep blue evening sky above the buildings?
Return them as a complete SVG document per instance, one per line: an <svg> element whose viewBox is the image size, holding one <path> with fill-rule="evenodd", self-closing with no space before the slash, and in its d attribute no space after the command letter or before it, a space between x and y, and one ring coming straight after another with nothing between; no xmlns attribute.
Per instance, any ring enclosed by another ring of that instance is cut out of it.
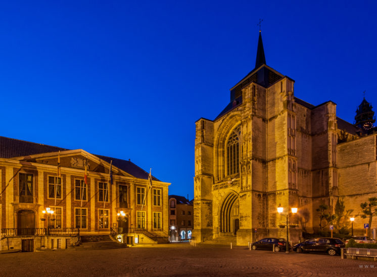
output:
<svg viewBox="0 0 377 277"><path fill-rule="evenodd" d="M254 69L259 18L296 97L351 123L364 90L377 107L375 1L302 2L3 2L0 135L131 159L192 199L195 121Z"/></svg>

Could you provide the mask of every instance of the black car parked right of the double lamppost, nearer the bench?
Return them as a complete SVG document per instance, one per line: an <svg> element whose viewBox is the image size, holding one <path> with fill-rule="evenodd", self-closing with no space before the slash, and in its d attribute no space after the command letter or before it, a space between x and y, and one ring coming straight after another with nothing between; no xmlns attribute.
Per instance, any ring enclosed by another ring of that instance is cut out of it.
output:
<svg viewBox="0 0 377 277"><path fill-rule="evenodd" d="M328 255L334 256L340 254L340 249L344 247L345 244L338 238L315 238L296 244L293 250L297 253L325 252Z"/></svg>

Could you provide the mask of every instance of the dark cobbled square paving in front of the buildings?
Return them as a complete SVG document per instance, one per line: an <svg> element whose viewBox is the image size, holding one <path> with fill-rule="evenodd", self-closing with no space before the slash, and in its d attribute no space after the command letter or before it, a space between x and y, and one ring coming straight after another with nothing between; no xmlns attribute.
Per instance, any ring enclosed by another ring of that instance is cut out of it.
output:
<svg viewBox="0 0 377 277"><path fill-rule="evenodd" d="M376 276L377 262L184 244L0 255L1 276Z"/></svg>

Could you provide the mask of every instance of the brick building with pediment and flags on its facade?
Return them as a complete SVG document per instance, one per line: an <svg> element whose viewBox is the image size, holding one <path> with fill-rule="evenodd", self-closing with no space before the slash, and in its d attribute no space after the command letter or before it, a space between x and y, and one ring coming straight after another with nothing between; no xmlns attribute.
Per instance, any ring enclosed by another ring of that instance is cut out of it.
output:
<svg viewBox="0 0 377 277"><path fill-rule="evenodd" d="M148 191L148 177L131 161L0 137L3 250L64 248L78 232L167 239L169 183L152 177Z"/></svg>

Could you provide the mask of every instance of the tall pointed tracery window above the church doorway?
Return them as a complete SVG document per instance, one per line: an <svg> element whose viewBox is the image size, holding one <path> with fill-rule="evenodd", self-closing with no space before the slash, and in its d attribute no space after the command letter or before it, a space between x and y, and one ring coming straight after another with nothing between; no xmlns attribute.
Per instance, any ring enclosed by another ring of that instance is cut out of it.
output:
<svg viewBox="0 0 377 277"><path fill-rule="evenodd" d="M240 126L234 128L226 142L226 168L228 175L240 171L240 131Z"/></svg>

